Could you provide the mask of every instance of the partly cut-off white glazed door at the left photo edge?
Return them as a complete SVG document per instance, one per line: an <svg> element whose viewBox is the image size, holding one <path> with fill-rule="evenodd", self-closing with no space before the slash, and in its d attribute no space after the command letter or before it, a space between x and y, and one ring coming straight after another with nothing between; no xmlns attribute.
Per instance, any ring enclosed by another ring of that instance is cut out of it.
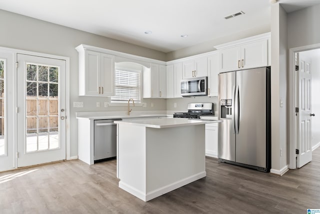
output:
<svg viewBox="0 0 320 214"><path fill-rule="evenodd" d="M13 57L0 51L0 171L14 168Z"/></svg>

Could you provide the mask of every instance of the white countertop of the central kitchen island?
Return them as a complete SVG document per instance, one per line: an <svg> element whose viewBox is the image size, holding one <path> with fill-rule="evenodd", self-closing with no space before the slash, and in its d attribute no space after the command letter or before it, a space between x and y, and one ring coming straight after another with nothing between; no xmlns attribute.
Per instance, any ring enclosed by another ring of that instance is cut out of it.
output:
<svg viewBox="0 0 320 214"><path fill-rule="evenodd" d="M149 128L170 128L178 126L200 125L206 123L219 123L222 120L196 120L188 118L159 118L159 119L141 119L141 120L126 120L114 121L118 124L130 124L136 126L144 126Z"/></svg>

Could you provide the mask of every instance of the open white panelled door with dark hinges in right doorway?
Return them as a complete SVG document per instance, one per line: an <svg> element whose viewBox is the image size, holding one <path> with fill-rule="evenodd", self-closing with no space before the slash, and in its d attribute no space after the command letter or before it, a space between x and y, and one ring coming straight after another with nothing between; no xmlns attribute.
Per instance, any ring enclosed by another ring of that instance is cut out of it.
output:
<svg viewBox="0 0 320 214"><path fill-rule="evenodd" d="M297 71L298 106L297 113L297 149L299 150L296 158L297 168L302 167L312 159L311 147L311 72L310 62L301 58L297 54L299 69Z"/></svg>

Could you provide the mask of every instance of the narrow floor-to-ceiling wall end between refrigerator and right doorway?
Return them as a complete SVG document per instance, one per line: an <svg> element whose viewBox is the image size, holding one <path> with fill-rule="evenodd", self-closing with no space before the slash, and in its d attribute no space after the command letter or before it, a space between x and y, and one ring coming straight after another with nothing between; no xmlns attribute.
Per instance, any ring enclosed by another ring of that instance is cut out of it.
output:
<svg viewBox="0 0 320 214"><path fill-rule="evenodd" d="M281 173L287 161L287 31L286 12L271 7L271 172ZM280 107L280 100L283 107ZM282 152L280 152L282 151Z"/></svg>

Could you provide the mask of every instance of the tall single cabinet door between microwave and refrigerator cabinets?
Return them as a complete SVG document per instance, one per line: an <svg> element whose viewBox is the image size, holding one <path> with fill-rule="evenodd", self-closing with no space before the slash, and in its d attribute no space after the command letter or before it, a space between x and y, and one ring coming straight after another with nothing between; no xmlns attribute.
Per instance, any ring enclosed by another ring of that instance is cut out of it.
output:
<svg viewBox="0 0 320 214"><path fill-rule="evenodd" d="M208 96L218 96L219 55L208 57Z"/></svg>

